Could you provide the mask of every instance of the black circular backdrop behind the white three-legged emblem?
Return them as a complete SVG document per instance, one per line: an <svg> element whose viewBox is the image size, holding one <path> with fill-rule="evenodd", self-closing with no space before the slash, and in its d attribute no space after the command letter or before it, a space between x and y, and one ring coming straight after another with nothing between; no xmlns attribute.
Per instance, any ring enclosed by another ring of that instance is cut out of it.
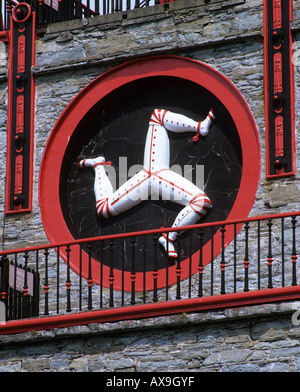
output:
<svg viewBox="0 0 300 392"><path fill-rule="evenodd" d="M199 81L200 83L201 81ZM209 109L216 120L207 137L194 143L193 133L169 132L170 165L192 165L195 183L196 165L204 165L205 193L212 209L201 222L225 220L241 180L242 153L236 126L225 106L208 90L182 78L147 77L123 85L101 99L72 134L61 167L60 201L67 226L75 239L170 227L182 206L165 200L141 202L129 211L109 219L96 214L94 170L79 169L84 158L104 156L112 161L119 179L119 157L127 157L127 168L143 164L148 122L154 108L181 113L196 121L203 120ZM122 168L124 170L124 167ZM213 232L206 229L204 242ZM180 236L180 259L199 249L199 233ZM168 260L153 238L136 237L134 258L132 240L109 241L92 247L92 257L105 265L136 272L165 268Z"/></svg>

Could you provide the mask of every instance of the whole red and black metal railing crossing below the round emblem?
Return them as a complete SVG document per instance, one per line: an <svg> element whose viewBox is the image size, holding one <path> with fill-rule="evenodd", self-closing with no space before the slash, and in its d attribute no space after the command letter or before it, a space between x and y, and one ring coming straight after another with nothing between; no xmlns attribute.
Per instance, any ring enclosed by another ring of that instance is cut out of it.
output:
<svg viewBox="0 0 300 392"><path fill-rule="evenodd" d="M159 248L158 237L175 229L2 251L2 267L9 260L23 261L26 268L19 288L21 316L10 301L12 287L2 270L1 300L10 320L0 325L0 333L298 299L299 215L181 228L174 265ZM100 260L94 259L95 250ZM126 258L127 266L122 262ZM39 285L31 318L26 314L32 291L28 268L38 275L34 284Z"/></svg>

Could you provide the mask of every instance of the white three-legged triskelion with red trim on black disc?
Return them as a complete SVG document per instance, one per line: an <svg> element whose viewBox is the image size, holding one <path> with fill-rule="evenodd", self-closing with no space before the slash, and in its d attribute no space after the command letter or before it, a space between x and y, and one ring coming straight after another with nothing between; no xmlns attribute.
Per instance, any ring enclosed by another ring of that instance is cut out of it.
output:
<svg viewBox="0 0 300 392"><path fill-rule="evenodd" d="M172 227L195 224L212 207L208 196L191 181L170 170L170 141L168 131L195 132L194 141L208 134L215 119L210 109L204 121L196 122L182 114L164 109L155 109L151 115L144 150L143 169L126 181L115 192L105 172L105 165L111 165L100 156L83 159L78 166L92 167L95 171L94 193L97 213L101 218L110 218L147 200L151 194L157 194L164 200L183 205ZM163 234L160 244L169 257L176 258L174 241L178 232ZM168 243L167 243L168 242Z"/></svg>

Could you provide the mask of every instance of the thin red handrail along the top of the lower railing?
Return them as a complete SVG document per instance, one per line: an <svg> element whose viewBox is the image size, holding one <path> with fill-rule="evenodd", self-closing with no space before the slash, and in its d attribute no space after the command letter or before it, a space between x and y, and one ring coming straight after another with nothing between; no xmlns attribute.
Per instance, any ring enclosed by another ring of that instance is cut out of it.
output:
<svg viewBox="0 0 300 392"><path fill-rule="evenodd" d="M143 231L134 231L134 232L127 232L127 233L119 233L119 234L109 234L103 236L96 236L90 238L81 238L73 241L62 241L56 243L48 243L48 244L41 244L36 246L29 246L19 249L9 249L9 250L2 250L0 251L0 256L9 255L12 253L23 253L23 252L30 252L35 250L46 250L50 248L61 248L63 246L72 246L72 245L82 245L87 244L90 242L97 242L97 241L106 241L106 240L114 240L120 238L132 238L132 237L140 237L143 235L151 235L151 234L161 234L161 233L171 233L174 231L188 231L188 230L195 230L195 229L202 229L207 227L222 227L222 226L229 226L229 225L242 225L249 222L257 222L257 221L264 221L269 219L278 219L278 218L288 218L293 216L300 216L300 211L294 212L284 212L284 213L277 213L277 214L268 214L268 215L259 215L259 216L252 216L252 217L244 217L238 219L231 219L231 220L223 220L223 221L216 221L216 222L207 222L207 223L199 223L195 225L189 226L181 226L180 228L175 227L163 227L159 229L151 229L151 230L143 230Z"/></svg>

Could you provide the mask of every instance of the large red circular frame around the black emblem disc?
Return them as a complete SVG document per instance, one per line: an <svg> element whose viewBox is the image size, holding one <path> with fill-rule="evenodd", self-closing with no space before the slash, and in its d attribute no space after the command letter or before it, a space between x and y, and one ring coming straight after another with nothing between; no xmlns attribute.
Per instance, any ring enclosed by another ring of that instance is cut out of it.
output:
<svg viewBox="0 0 300 392"><path fill-rule="evenodd" d="M260 176L260 143L258 131L252 113L239 91L222 74L210 66L196 60L177 56L158 56L138 59L112 68L90 84L88 84L68 105L57 120L46 145L41 169L39 202L42 222L51 243L74 242L64 220L59 198L59 179L61 165L68 141L80 120L102 98L113 90L132 81L153 77L173 76L192 81L214 94L230 113L239 133L243 168L240 188L235 203L226 221L248 217L253 206ZM91 206L91 208L93 208ZM234 238L232 226L226 230L226 245ZM214 254L216 257L221 250L220 230L214 235ZM66 260L66 253L61 248L60 253ZM74 255L74 253L77 254ZM192 274L198 271L198 254L192 256ZM82 255L82 275L88 277L88 255ZM210 241L203 247L203 264L211 261ZM189 258L181 262L180 279L189 276ZM79 273L79 252L72 252L70 267ZM92 259L92 276L94 283L99 284L100 263ZM103 285L109 287L109 267L103 265ZM177 280L176 266L169 267L168 282L174 284ZM132 276L125 271L124 289L131 289ZM157 275L158 288L165 287L166 270L161 269ZM143 274L136 273L136 290L143 290ZM114 288L122 288L122 272L114 270ZM146 272L146 289L153 289L153 272Z"/></svg>

